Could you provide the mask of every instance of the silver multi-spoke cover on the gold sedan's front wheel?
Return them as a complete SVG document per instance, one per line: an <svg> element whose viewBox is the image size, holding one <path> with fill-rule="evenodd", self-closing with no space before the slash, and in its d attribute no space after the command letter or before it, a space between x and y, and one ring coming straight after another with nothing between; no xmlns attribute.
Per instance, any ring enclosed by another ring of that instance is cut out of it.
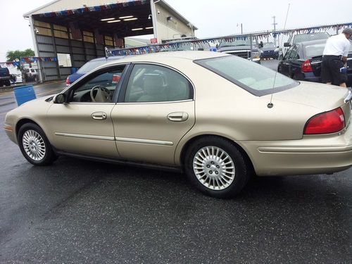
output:
<svg viewBox="0 0 352 264"><path fill-rule="evenodd" d="M42 161L46 153L46 148L44 139L37 131L27 130L23 134L22 144L27 156L34 161Z"/></svg>

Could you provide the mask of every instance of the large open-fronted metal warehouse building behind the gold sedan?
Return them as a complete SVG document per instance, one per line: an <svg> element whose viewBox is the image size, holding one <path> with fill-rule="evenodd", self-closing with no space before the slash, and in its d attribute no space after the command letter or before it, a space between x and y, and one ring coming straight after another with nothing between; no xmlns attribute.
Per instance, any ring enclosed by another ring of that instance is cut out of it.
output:
<svg viewBox="0 0 352 264"><path fill-rule="evenodd" d="M123 48L125 37L152 43L193 37L197 28L163 0L56 0L23 15L30 22L40 80L64 79L73 68Z"/></svg>

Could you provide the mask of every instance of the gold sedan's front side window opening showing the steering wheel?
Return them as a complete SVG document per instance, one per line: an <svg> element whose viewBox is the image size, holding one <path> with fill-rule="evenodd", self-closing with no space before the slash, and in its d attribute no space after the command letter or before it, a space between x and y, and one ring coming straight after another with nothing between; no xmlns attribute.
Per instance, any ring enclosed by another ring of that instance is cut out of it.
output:
<svg viewBox="0 0 352 264"><path fill-rule="evenodd" d="M100 70L87 77L74 91L71 102L111 103L125 65Z"/></svg>

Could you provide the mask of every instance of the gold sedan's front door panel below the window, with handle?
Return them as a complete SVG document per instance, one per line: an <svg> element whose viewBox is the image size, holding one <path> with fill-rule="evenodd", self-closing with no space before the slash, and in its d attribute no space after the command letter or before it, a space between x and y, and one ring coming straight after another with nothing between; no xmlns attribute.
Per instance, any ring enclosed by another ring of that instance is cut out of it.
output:
<svg viewBox="0 0 352 264"><path fill-rule="evenodd" d="M111 120L113 106L54 103L48 111L51 144L61 151L118 158Z"/></svg>

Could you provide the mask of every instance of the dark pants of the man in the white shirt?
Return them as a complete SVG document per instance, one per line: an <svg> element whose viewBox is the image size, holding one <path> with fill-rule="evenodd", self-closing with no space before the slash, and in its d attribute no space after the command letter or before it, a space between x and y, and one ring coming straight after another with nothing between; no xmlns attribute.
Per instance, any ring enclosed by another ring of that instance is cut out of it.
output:
<svg viewBox="0 0 352 264"><path fill-rule="evenodd" d="M341 61L341 56L325 55L322 57L322 83L331 82L333 85L340 85L347 82L346 69Z"/></svg>

